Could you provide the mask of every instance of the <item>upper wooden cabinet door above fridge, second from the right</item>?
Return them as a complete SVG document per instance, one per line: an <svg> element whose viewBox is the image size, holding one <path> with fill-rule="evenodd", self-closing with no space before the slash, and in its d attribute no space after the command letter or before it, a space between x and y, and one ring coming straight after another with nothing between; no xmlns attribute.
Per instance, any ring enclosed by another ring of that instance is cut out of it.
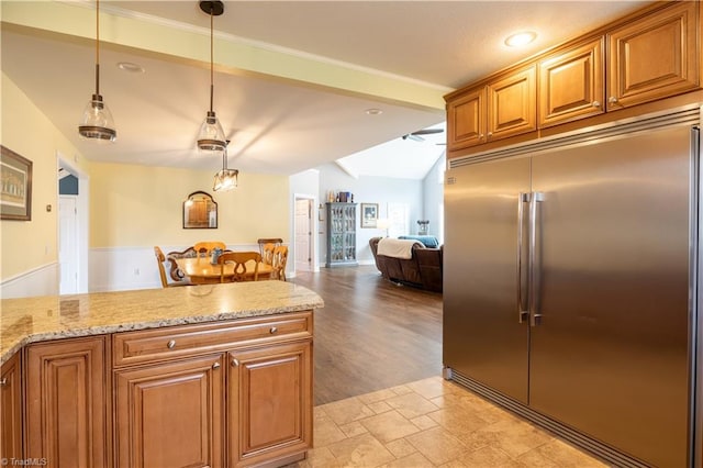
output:
<svg viewBox="0 0 703 468"><path fill-rule="evenodd" d="M603 37L539 62L539 127L605 112Z"/></svg>

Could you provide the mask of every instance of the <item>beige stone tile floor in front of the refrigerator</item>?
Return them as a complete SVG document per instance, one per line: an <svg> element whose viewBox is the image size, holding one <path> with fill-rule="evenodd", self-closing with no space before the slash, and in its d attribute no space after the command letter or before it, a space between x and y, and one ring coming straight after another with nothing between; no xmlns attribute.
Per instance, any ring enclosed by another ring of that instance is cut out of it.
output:
<svg viewBox="0 0 703 468"><path fill-rule="evenodd" d="M607 467L442 377L314 409L309 467Z"/></svg>

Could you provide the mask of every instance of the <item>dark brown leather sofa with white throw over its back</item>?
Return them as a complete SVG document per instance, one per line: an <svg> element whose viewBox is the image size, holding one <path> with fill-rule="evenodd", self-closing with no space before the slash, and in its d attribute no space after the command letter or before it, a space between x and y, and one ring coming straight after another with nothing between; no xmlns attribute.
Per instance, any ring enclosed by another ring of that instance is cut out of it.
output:
<svg viewBox="0 0 703 468"><path fill-rule="evenodd" d="M392 242L395 245L405 243L404 246L410 250L410 258L403 258L408 255L388 254L387 248L382 248L381 254L379 254L379 242L381 239L389 238L371 237L369 247L373 254L376 267L383 278L401 285L442 292L443 245L437 248L428 248L416 239L384 241L386 244ZM387 255L383 255L384 250Z"/></svg>

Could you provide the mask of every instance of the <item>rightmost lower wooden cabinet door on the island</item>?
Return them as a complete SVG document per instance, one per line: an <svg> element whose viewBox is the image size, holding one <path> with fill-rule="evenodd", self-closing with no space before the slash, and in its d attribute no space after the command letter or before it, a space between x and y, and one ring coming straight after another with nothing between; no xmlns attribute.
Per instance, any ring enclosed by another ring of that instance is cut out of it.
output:
<svg viewBox="0 0 703 468"><path fill-rule="evenodd" d="M230 353L230 467L312 447L312 343Z"/></svg>

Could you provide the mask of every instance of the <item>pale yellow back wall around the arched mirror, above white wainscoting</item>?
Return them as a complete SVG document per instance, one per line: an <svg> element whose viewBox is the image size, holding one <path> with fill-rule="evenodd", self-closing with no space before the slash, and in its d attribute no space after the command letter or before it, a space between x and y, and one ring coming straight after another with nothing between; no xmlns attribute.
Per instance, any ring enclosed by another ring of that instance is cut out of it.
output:
<svg viewBox="0 0 703 468"><path fill-rule="evenodd" d="M239 186L213 192L217 167L189 170L91 163L90 247L256 244L289 233L288 177L239 172ZM202 190L217 202L216 230L183 230L182 202Z"/></svg>

